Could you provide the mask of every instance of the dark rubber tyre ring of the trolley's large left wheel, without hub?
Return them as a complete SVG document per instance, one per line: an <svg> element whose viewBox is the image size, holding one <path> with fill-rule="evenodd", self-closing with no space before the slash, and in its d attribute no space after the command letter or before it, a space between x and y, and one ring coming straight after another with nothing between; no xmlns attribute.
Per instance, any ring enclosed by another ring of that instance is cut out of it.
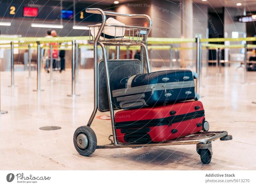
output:
<svg viewBox="0 0 256 186"><path fill-rule="evenodd" d="M81 133L86 135L88 138L88 145L85 149L81 149L76 144L76 138ZM73 142L74 142L76 151L83 156L91 155L92 153L94 153L94 151L96 150L96 147L97 147L97 138L96 138L95 132L92 130L91 127L88 127L88 126L81 126L76 129L76 131L74 133L74 137L73 137Z"/></svg>

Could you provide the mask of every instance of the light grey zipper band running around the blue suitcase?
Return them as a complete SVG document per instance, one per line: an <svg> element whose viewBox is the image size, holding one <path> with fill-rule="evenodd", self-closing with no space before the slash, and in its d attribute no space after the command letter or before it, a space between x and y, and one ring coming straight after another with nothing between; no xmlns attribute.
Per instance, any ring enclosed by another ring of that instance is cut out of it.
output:
<svg viewBox="0 0 256 186"><path fill-rule="evenodd" d="M124 96L129 94L137 94L137 93L145 93L151 92L151 95L154 94L156 90L164 90L164 93L167 92L167 89L178 89L178 88L190 88L195 87L195 81L185 81L185 82L170 82L170 83L159 83L159 84L152 84L152 85L143 85L131 88L123 88L113 90L112 94L113 97Z"/></svg>

